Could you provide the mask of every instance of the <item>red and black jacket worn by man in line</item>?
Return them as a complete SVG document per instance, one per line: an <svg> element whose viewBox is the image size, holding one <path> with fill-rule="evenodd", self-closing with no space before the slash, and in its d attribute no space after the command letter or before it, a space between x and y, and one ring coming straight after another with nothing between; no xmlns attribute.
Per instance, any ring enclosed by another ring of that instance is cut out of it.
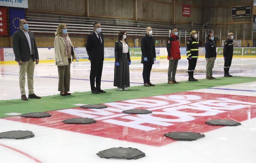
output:
<svg viewBox="0 0 256 163"><path fill-rule="evenodd" d="M169 60L171 57L174 60L180 59L180 42L178 40L178 36L171 34L166 43L166 48L168 52L167 59Z"/></svg>

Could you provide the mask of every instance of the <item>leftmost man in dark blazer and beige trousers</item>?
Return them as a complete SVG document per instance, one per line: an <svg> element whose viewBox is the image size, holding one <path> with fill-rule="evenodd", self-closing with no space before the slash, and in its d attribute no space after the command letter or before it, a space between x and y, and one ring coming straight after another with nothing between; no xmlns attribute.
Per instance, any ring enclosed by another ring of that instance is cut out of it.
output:
<svg viewBox="0 0 256 163"><path fill-rule="evenodd" d="M33 32L28 30L28 22L25 19L20 20L20 29L12 36L12 46L15 54L15 60L19 64L19 83L21 99L28 100L25 91L25 76L27 73L28 98L41 99L34 94L34 67L39 63L36 40Z"/></svg>

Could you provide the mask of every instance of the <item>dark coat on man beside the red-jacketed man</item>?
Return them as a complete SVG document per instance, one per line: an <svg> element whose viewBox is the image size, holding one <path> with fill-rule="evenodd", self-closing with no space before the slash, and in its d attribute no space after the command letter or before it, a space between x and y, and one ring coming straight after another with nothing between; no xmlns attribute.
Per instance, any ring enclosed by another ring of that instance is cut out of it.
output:
<svg viewBox="0 0 256 163"><path fill-rule="evenodd" d="M141 63L144 63L144 58L147 57L147 62L154 64L154 58L156 58L154 38L152 36L149 37L147 34L143 36L140 48L142 51Z"/></svg>

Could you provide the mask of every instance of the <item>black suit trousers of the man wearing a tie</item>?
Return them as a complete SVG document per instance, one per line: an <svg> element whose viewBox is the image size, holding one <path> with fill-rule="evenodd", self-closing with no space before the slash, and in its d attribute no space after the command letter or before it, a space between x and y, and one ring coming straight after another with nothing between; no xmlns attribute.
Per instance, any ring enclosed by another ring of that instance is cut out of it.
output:
<svg viewBox="0 0 256 163"><path fill-rule="evenodd" d="M92 91L99 91L101 89L101 75L103 68L103 60L91 61L90 84ZM95 85L96 77L96 87Z"/></svg>

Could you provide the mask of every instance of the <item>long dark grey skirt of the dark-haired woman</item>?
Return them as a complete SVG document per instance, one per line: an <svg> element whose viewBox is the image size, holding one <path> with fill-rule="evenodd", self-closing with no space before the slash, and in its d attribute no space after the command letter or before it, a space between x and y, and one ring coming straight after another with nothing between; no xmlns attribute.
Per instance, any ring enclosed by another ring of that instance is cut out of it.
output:
<svg viewBox="0 0 256 163"><path fill-rule="evenodd" d="M122 59L118 59L119 66L114 66L114 86L130 87L130 72L128 53L123 53Z"/></svg>

